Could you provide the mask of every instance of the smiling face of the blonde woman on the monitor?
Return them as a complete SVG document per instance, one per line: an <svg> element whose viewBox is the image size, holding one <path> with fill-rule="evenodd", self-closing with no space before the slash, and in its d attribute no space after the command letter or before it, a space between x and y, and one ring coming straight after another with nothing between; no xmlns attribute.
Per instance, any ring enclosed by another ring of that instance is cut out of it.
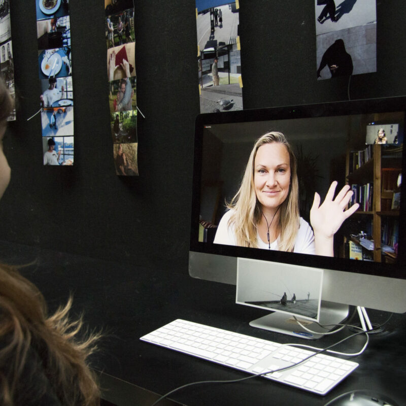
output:
<svg viewBox="0 0 406 406"><path fill-rule="evenodd" d="M288 197L290 158L283 144L273 142L258 148L254 160L254 186L263 212L275 213Z"/></svg>

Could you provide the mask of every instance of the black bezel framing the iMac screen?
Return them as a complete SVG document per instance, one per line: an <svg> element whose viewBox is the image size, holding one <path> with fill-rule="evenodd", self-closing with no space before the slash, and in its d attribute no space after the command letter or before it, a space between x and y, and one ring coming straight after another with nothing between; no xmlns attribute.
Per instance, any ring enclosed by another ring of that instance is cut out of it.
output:
<svg viewBox="0 0 406 406"><path fill-rule="evenodd" d="M347 272L375 275L391 278L406 279L402 263L405 263L406 249L399 249L397 261L393 264L373 261L356 261L349 258L323 257L299 253L267 251L258 248L228 246L220 244L202 243L198 241L198 221L200 212L200 179L202 163L202 142L205 125L227 124L252 121L270 121L296 118L314 118L326 116L342 116L385 112L404 112L406 97L388 97L353 101L338 101L332 103L272 107L264 109L241 110L222 113L199 114L195 120L194 164L192 187L192 210L190 228L190 251L223 255L229 257L243 257L261 259L288 264L301 263L324 269L342 270ZM406 116L406 114L405 114ZM406 120L406 117L404 117ZM406 129L405 123L402 123ZM405 152L402 152L402 173L405 171ZM406 196L406 185L402 182L401 195ZM403 198L400 202L399 225L405 218L406 205ZM406 248L406 230L399 227L399 247Z"/></svg>

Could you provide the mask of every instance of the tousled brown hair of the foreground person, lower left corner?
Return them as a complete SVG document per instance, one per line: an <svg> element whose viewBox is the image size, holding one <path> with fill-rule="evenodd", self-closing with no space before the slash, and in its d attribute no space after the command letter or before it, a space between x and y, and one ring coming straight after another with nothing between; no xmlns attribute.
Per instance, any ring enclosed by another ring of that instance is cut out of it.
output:
<svg viewBox="0 0 406 406"><path fill-rule="evenodd" d="M99 405L99 389L86 361L99 334L78 340L82 318L69 320L71 306L72 298L48 316L38 288L15 268L0 265L2 406L23 404L28 397L35 403L50 389L63 405ZM38 378L41 374L46 379Z"/></svg>

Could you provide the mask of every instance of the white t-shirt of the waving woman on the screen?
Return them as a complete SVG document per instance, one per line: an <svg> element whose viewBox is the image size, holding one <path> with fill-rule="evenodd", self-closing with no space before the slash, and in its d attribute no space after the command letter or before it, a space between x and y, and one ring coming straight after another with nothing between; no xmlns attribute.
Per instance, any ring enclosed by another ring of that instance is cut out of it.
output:
<svg viewBox="0 0 406 406"><path fill-rule="evenodd" d="M224 244L224 245L237 245L234 229L234 224L228 226L228 220L230 219L234 210L228 210L224 216L221 218L220 223L217 227L216 236L214 238L214 244ZM299 219L299 230L297 231L295 245L293 252L300 254L315 254L314 245L314 233L312 227L306 220L301 217ZM258 248L269 250L268 243L264 243L258 233L257 233L257 244ZM271 250L278 250L278 240L270 244Z"/></svg>

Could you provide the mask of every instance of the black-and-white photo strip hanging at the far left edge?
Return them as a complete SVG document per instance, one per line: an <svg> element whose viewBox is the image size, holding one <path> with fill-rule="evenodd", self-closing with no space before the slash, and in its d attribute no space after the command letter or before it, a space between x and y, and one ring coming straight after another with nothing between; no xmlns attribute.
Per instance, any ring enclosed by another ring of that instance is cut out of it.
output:
<svg viewBox="0 0 406 406"><path fill-rule="evenodd" d="M13 47L11 42L11 23L10 23L10 1L0 2L0 75L6 82L10 94L14 98L14 64ZM15 120L15 110L10 114L8 120Z"/></svg>

